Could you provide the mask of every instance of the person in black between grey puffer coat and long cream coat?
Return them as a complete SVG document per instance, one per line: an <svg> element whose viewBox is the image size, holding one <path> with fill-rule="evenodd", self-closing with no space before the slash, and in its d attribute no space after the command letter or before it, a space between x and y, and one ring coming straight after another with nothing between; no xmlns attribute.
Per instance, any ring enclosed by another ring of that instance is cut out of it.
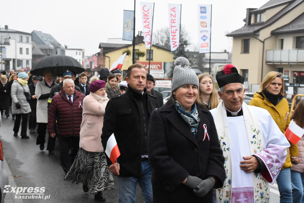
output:
<svg viewBox="0 0 304 203"><path fill-rule="evenodd" d="M35 76L32 79L33 83L29 84L29 92L31 93L31 102L29 103L29 106L31 107L32 112L29 113L29 133L35 133L36 128L36 105L37 105L37 99L35 95L35 89L37 83L40 81L40 77Z"/></svg>

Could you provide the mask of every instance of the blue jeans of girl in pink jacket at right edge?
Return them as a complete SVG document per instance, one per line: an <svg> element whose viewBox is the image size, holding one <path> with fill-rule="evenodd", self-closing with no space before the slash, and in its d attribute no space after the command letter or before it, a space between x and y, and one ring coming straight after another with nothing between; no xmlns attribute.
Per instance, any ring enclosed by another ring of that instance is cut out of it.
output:
<svg viewBox="0 0 304 203"><path fill-rule="evenodd" d="M304 203L303 180L304 173L291 171L292 199L294 203Z"/></svg>

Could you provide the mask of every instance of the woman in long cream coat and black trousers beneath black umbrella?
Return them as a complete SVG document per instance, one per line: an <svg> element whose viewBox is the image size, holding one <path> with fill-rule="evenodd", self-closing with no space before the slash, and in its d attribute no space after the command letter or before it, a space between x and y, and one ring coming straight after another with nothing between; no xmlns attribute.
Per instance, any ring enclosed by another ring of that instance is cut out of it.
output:
<svg viewBox="0 0 304 203"><path fill-rule="evenodd" d="M58 84L54 83L53 81L52 71L45 71L43 73L43 80L37 83L35 89L35 95L37 99L36 118L38 123L38 137L36 144L40 144L40 150L44 149L45 134L47 131L47 102L51 89L56 86L58 86ZM54 155L55 141L56 138L50 137L49 135L47 150L49 150L50 155Z"/></svg>

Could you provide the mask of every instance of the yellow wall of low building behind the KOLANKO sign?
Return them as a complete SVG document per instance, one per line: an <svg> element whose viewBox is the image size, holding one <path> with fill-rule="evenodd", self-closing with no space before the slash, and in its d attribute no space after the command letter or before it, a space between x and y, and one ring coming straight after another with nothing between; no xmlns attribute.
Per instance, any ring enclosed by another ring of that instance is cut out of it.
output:
<svg viewBox="0 0 304 203"><path fill-rule="evenodd" d="M124 48L117 49L115 51L106 53L105 55L110 57L110 64L109 64L109 57L105 57L105 67L109 69L113 65L113 63L122 55L122 52L126 49L129 49L132 52L133 45L130 45L127 48L124 47ZM135 49L139 49L139 51L145 52L146 55L147 55L147 49L150 50L150 48L145 47L144 43L135 45ZM174 55L172 53L170 53L169 51L154 47L153 45L152 45L151 50L153 50L153 60L151 60L151 62L174 62L174 59L173 59ZM149 62L149 60L146 60L147 59L146 55L144 57L140 57L139 60L137 60L137 61ZM122 71L127 70L128 67L132 65L132 62L133 62L132 54L126 55L126 58L125 58L125 61L123 62L123 67L121 70Z"/></svg>

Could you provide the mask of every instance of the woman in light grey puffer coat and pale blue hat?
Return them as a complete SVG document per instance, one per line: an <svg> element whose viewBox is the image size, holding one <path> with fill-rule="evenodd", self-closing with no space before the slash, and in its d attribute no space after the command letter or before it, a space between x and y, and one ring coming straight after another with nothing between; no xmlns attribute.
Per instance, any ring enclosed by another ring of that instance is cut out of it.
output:
<svg viewBox="0 0 304 203"><path fill-rule="evenodd" d="M26 134L27 130L27 118L31 112L31 107L29 102L26 101L26 95L30 95L29 86L27 86L28 75L24 72L18 74L16 80L14 80L11 88L12 97L12 114L16 115L16 120L14 124L14 137L18 136L21 117L21 138L29 139Z"/></svg>

